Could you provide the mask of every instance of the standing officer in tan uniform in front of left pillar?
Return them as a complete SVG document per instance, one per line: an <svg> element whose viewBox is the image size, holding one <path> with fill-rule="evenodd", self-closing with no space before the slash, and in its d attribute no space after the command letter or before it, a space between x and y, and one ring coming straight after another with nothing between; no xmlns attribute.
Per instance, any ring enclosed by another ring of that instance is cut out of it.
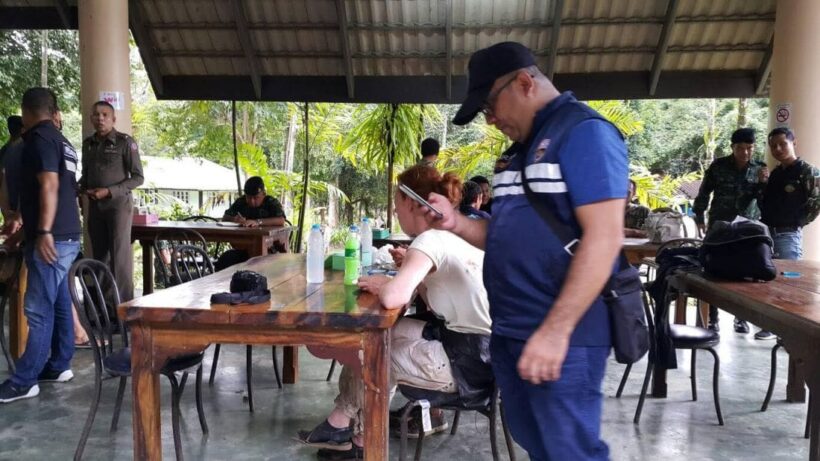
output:
<svg viewBox="0 0 820 461"><path fill-rule="evenodd" d="M88 235L94 259L111 268L123 301L134 297L131 251L131 191L142 184L142 163L134 138L114 129L114 107L94 103L95 133L83 140L80 191L89 198Z"/></svg>

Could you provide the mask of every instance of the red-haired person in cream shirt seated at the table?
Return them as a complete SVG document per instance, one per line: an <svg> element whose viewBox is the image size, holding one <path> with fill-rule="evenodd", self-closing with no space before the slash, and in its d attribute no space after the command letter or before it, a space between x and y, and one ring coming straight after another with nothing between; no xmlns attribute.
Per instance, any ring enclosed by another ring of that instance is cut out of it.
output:
<svg viewBox="0 0 820 461"><path fill-rule="evenodd" d="M453 205L461 199L458 178L451 173L441 176L429 166L414 166L398 180L422 197L436 192ZM429 321L404 317L391 331L391 396L396 384L458 393L462 399L487 396L493 375L489 363L490 314L482 282L484 252L455 234L431 229L423 214L415 211L420 205L399 190L395 203L402 231L416 238L395 278L361 277L359 287L377 294L388 309L406 305L419 288L434 315ZM335 408L312 431L300 431L298 439L321 447L321 459L362 459L364 386L359 351L308 349L318 357L339 360L344 368ZM433 413L431 419L433 431L446 429L440 412Z"/></svg>

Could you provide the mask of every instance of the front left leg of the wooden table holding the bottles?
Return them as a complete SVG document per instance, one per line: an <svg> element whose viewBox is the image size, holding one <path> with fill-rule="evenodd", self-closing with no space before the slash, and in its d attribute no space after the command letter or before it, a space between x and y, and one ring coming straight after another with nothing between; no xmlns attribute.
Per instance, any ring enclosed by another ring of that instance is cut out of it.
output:
<svg viewBox="0 0 820 461"><path fill-rule="evenodd" d="M162 459L159 375L153 370L153 338L149 328L131 325L134 459ZM160 359L161 360L161 359Z"/></svg>

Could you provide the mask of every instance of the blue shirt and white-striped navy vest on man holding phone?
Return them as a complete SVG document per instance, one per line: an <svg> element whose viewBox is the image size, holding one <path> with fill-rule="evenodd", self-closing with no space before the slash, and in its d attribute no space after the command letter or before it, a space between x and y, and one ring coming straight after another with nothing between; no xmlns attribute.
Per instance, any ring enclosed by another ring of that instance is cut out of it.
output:
<svg viewBox="0 0 820 461"><path fill-rule="evenodd" d="M561 291L571 256L532 207L521 185L527 180L559 220L580 235L575 209L624 198L626 146L618 130L564 93L535 117L531 138L515 143L496 163L493 214L487 229L484 285L493 333L528 339ZM601 261L615 268L615 261ZM609 346L609 315L599 296L570 338L572 346Z"/></svg>

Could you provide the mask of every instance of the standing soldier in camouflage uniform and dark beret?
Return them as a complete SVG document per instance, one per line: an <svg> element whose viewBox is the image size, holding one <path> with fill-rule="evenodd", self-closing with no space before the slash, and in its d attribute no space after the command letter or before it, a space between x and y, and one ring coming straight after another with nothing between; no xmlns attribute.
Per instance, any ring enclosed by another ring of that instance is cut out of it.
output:
<svg viewBox="0 0 820 461"><path fill-rule="evenodd" d="M755 132L740 128L732 133L732 155L721 157L706 170L692 210L698 232L703 235L707 226L704 212L709 208L709 227L716 221L733 221L737 216L759 219L757 197L763 191L769 170L763 162L753 160ZM709 203L709 196L712 202ZM735 318L735 331L748 333L749 325ZM709 309L709 328L718 330L718 312Z"/></svg>

